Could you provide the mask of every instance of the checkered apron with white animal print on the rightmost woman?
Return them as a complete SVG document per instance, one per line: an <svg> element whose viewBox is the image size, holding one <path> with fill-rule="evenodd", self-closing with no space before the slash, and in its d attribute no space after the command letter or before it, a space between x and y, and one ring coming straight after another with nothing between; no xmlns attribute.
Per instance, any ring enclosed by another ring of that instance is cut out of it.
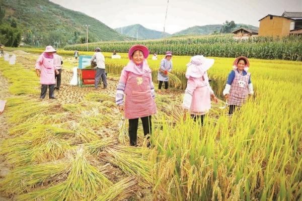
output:
<svg viewBox="0 0 302 201"><path fill-rule="evenodd" d="M251 73L248 72L245 76L241 75L235 69L235 78L231 84L231 90L229 95L228 104L242 106L248 98L248 84Z"/></svg>

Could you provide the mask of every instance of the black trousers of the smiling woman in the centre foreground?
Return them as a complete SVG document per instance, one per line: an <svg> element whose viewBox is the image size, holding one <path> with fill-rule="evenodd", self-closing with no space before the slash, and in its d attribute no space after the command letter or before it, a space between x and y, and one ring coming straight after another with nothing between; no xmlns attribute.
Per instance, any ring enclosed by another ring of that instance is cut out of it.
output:
<svg viewBox="0 0 302 201"><path fill-rule="evenodd" d="M152 133L152 123L151 123L151 116L142 117L141 123L143 128L143 134L146 136L147 134ZM129 138L130 138L130 145L135 146L137 144L137 127L138 127L138 118L137 119L129 119ZM149 137L147 138L149 139ZM150 146L148 143L147 146Z"/></svg>

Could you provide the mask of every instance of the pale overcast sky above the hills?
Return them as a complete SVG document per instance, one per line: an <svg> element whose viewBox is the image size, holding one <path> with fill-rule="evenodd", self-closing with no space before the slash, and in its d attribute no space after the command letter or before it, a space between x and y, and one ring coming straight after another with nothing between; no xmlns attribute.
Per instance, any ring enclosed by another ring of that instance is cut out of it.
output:
<svg viewBox="0 0 302 201"><path fill-rule="evenodd" d="M50 0L62 7L80 11L111 28L140 24L164 30L167 0ZM259 26L268 14L302 12L302 0L169 0L166 32L193 26L222 24L226 20Z"/></svg>

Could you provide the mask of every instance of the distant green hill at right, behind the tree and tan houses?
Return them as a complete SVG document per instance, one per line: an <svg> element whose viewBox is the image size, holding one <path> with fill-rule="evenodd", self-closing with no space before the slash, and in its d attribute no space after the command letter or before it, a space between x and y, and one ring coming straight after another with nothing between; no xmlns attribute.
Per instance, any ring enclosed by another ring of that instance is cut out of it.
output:
<svg viewBox="0 0 302 201"><path fill-rule="evenodd" d="M205 26L194 26L188 29L184 29L180 32L174 33L172 36L179 35L208 35L213 34L214 32L220 33L222 25L205 25ZM246 24L236 24L236 27L233 30L239 29L240 27L244 27L247 29L258 30L258 27Z"/></svg>

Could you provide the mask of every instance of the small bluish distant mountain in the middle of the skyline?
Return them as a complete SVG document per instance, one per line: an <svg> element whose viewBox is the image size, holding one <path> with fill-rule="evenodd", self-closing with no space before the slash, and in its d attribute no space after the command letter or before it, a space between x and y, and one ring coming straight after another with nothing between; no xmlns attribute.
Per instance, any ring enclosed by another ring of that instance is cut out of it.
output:
<svg viewBox="0 0 302 201"><path fill-rule="evenodd" d="M164 32L152 30L152 29L147 29L139 24L136 25L129 25L126 27L120 27L114 29L118 33L124 34L126 36L130 36L133 38L136 38L137 34L137 39L142 40L142 39L159 39L164 37ZM165 33L165 37L169 37L171 34Z"/></svg>

